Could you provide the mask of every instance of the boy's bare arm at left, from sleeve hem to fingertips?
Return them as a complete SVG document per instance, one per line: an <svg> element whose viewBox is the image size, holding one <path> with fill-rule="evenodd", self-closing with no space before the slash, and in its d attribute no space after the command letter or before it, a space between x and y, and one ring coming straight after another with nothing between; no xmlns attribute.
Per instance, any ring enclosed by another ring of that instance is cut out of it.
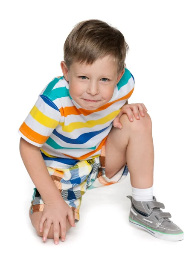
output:
<svg viewBox="0 0 192 256"><path fill-rule="evenodd" d="M59 240L59 226L61 239L66 236L66 218L72 227L76 227L73 211L63 200L61 193L49 175L47 166L41 155L40 148L20 138L20 155L35 187L44 201L44 211L39 222L39 231L43 233L43 240L47 240L51 224L53 223L53 236L55 244ZM46 222L43 230L44 222Z"/></svg>

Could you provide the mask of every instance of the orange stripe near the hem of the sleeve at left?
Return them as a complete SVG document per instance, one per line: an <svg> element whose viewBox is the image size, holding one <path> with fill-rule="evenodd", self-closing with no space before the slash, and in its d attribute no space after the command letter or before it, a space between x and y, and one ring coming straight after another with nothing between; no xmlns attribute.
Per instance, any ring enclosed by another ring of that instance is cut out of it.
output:
<svg viewBox="0 0 192 256"><path fill-rule="evenodd" d="M36 131L33 131L25 122L20 126L19 131L25 135L29 140L32 140L39 144L44 144L49 136L43 136L38 134Z"/></svg>

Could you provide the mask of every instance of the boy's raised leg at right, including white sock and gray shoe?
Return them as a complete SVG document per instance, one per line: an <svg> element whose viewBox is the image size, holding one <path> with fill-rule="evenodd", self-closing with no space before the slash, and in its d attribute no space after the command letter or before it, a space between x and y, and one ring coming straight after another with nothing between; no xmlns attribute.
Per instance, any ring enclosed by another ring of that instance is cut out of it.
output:
<svg viewBox="0 0 192 256"><path fill-rule="evenodd" d="M152 140L152 124L148 113L131 122L127 114L120 117L122 129L112 128L105 144L105 175L113 177L125 163L130 172L131 185L134 192L128 196L131 200L129 221L146 230L152 236L169 241L180 241L183 231L169 218L169 212L162 212L164 204L157 202L152 194L154 147ZM144 200L143 195L150 192L153 200ZM137 197L135 197L137 195ZM142 199L139 199L142 198Z"/></svg>

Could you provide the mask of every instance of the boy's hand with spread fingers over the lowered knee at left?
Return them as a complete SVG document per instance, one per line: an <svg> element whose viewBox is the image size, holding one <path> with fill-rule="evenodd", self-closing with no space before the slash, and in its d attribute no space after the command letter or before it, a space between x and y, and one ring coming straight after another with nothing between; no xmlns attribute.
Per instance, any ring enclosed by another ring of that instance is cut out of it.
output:
<svg viewBox="0 0 192 256"><path fill-rule="evenodd" d="M59 224L61 227L61 240L64 241L66 236L66 218L72 227L76 227L75 219L73 216L73 210L68 206L68 204L61 198L54 202L44 202L44 211L39 221L39 230L43 232L43 225L46 221L43 234L43 241L47 240L47 236L53 223L53 235L55 244L59 241Z"/></svg>

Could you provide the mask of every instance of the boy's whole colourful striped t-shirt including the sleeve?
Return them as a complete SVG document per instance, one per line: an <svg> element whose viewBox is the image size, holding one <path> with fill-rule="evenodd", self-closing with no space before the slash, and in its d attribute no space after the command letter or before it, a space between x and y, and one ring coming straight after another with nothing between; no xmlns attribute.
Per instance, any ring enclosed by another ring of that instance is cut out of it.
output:
<svg viewBox="0 0 192 256"><path fill-rule="evenodd" d="M42 90L18 132L40 147L46 166L52 168L67 169L80 160L98 157L113 120L134 91L134 82L125 68L111 100L90 111L71 98L64 76L55 77Z"/></svg>

